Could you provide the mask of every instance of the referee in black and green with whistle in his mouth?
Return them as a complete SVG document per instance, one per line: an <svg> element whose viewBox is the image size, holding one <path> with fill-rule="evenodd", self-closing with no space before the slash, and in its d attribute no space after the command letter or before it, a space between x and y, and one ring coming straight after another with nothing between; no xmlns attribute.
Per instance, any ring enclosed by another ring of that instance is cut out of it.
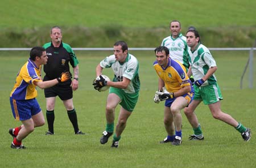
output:
<svg viewBox="0 0 256 168"><path fill-rule="evenodd" d="M73 106L73 91L79 86L79 61L76 58L71 46L62 42L61 29L58 26L51 28L51 42L44 44L46 49L48 62L44 65L44 81L55 79L63 71L69 71L69 64L73 67L74 79L65 81L64 83L55 85L54 87L44 90L46 97L46 118L48 123L48 131L46 135L54 135L53 123L55 119L54 107L56 96L59 96L67 110L68 118L71 121L75 134L85 134L79 130L77 124L76 110Z"/></svg>

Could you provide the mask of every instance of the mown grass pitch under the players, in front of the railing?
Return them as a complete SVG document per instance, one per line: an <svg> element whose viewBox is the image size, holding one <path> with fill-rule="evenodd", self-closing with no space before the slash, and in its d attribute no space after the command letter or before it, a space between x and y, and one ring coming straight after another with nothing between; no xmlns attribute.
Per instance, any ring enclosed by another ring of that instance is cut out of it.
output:
<svg viewBox="0 0 256 168"><path fill-rule="evenodd" d="M47 125L36 128L23 141L27 149L14 150L10 148L12 139L7 131L20 123L15 122L11 114L9 94L19 68L27 60L27 53L0 53L1 167L256 167L256 105L253 98L256 87L254 84L253 89L248 89L245 76L245 89L240 89L247 51L214 51L213 55L218 65L218 83L224 96L222 110L251 128L253 136L248 143L242 140L240 133L234 128L213 119L207 106L202 104L196 114L203 128L204 141L188 140L192 129L183 114L183 144L179 147L160 145L159 141L164 139L166 132L163 126L163 103L155 104L152 101L157 88L157 77L152 68L154 54L152 51L131 51L140 63L139 101L127 122L119 148L110 148L110 142L101 145L99 141L101 132L105 129L104 109L108 92L95 91L92 80L98 62L112 54L112 51L77 51L80 88L74 92L73 99L80 129L87 135L73 135L67 112L58 100L55 108L55 135L44 135ZM113 76L111 70L104 73L109 77ZM45 115L46 103L40 89L38 101Z"/></svg>

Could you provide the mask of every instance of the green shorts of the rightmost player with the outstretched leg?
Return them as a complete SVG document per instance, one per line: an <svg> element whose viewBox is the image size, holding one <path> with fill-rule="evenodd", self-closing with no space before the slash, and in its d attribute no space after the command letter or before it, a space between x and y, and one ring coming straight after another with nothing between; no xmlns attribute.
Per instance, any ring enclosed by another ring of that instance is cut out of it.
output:
<svg viewBox="0 0 256 168"><path fill-rule="evenodd" d="M193 87L195 89L193 100L201 100L205 105L214 104L223 99L218 83L204 87L197 87L197 85L194 84Z"/></svg>

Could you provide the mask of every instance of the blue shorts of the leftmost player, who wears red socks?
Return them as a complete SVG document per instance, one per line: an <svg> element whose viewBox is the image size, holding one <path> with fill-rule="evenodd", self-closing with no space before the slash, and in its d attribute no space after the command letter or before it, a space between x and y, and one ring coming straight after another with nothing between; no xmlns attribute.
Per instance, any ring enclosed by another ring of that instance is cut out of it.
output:
<svg viewBox="0 0 256 168"><path fill-rule="evenodd" d="M36 98L30 100L15 100L10 97L11 110L16 120L27 120L41 111Z"/></svg>

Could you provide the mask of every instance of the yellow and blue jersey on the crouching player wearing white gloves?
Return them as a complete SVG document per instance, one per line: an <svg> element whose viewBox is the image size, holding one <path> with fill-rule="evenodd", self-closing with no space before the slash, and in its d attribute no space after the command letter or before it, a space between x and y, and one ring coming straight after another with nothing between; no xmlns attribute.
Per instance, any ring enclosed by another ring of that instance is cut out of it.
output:
<svg viewBox="0 0 256 168"><path fill-rule="evenodd" d="M167 67L162 67L157 61L155 61L154 68L156 74L158 74L160 79L164 81L168 92L176 92L189 85L191 86L191 91L193 91L193 87L186 73L185 67L179 61L168 58Z"/></svg>

